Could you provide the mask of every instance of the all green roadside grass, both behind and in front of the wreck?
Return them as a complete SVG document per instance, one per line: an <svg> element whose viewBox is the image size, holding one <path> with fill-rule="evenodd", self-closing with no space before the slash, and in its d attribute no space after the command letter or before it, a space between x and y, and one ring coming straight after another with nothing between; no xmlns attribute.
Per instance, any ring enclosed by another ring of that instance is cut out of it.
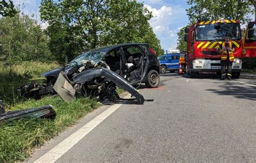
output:
<svg viewBox="0 0 256 163"><path fill-rule="evenodd" d="M100 106L95 99L78 98L65 102L60 97L44 97L41 100L18 97L16 88L38 78L42 72L58 66L56 63L25 62L15 66L0 63L0 99L7 104L6 110L53 105L57 117L48 119L26 118L0 125L0 162L23 161L31 155L33 148L58 135L66 127L77 123L87 112ZM121 90L120 90L121 91Z"/></svg>

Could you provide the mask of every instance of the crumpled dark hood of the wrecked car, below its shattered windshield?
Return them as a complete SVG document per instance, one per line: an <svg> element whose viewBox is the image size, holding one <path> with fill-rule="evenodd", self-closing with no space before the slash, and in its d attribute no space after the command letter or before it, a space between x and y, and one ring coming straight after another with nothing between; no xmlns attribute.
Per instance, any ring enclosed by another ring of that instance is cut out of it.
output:
<svg viewBox="0 0 256 163"><path fill-rule="evenodd" d="M40 76L41 77L56 77L56 78L58 78L60 71L65 71L65 73L67 75L70 75L77 71L77 66L74 66L74 65L61 66L56 69L46 71L46 72L42 73Z"/></svg>

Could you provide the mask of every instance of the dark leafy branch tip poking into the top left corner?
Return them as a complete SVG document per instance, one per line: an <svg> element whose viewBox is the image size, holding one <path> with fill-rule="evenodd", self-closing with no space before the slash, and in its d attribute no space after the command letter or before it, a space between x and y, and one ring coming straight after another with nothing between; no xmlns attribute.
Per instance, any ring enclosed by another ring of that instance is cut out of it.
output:
<svg viewBox="0 0 256 163"><path fill-rule="evenodd" d="M18 13L14 8L14 3L12 1L9 2L10 4L8 4L5 0L0 2L0 15L13 17L16 13Z"/></svg>

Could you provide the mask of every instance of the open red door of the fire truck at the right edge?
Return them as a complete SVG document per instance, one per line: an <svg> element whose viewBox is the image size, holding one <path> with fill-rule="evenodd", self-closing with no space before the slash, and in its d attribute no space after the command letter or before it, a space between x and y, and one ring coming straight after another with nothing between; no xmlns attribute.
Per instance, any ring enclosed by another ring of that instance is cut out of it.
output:
<svg viewBox="0 0 256 163"><path fill-rule="evenodd" d="M244 49L243 57L256 57L256 22L250 22L247 25L243 38Z"/></svg>

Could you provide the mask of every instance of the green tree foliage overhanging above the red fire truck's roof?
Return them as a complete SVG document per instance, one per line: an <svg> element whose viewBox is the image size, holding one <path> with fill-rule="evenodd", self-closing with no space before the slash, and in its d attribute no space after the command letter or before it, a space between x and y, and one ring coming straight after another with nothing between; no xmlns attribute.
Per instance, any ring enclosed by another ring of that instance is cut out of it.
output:
<svg viewBox="0 0 256 163"><path fill-rule="evenodd" d="M232 19L242 23L250 21L250 13L253 13L254 0L188 0L187 4L192 5L186 9L190 21L207 18L217 20L230 16Z"/></svg>

